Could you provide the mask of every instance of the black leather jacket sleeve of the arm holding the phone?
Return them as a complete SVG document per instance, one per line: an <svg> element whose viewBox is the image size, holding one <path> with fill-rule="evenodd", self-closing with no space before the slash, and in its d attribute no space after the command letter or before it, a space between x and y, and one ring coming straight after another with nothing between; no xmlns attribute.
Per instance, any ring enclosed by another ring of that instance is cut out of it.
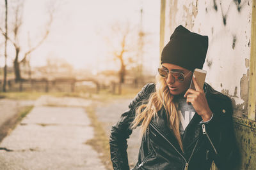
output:
<svg viewBox="0 0 256 170"><path fill-rule="evenodd" d="M232 103L226 96L225 101L214 105L216 108L211 109L214 116L202 125L202 132L209 140L216 166L221 170L235 169L239 163L239 151L232 121Z"/></svg>

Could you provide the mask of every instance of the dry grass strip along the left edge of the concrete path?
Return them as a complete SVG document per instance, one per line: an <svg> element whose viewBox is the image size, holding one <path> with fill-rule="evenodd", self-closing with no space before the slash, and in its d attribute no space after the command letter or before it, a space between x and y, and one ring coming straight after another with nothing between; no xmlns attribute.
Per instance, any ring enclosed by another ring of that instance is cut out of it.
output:
<svg viewBox="0 0 256 170"><path fill-rule="evenodd" d="M23 108L20 108L19 113L15 115L14 117L10 118L0 128L0 142L4 139L5 136L10 134L13 129L19 124L19 122L22 120L22 118L26 117L28 113L33 109L33 106L26 106Z"/></svg>

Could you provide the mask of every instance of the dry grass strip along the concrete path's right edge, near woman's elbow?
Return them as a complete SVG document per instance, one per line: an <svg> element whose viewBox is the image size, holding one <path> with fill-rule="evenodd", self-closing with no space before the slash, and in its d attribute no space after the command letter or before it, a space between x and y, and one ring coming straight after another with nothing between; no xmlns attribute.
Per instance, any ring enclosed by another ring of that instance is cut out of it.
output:
<svg viewBox="0 0 256 170"><path fill-rule="evenodd" d="M106 136L101 123L98 121L95 114L95 106L88 106L85 108L88 117L91 120L94 129L94 138L86 141L86 144L91 145L94 150L100 153L99 157L106 169L113 169L109 153L109 138Z"/></svg>

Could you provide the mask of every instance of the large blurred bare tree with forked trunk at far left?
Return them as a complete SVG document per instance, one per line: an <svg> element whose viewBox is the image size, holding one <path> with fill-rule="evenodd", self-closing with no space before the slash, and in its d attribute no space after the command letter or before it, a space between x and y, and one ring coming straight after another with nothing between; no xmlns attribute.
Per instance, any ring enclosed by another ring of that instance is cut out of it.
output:
<svg viewBox="0 0 256 170"><path fill-rule="evenodd" d="M20 1L16 2L15 4L13 4L13 13L12 13L13 14L13 24L12 24L13 26L12 26L12 28L10 28L10 32L12 32L12 38L10 36L7 36L6 32L4 32L3 29L1 29L1 27L0 27L0 31L2 32L2 34L8 38L8 40L12 43L12 45L15 48L15 58L13 60L13 68L15 71L15 80L16 81L19 81L22 79L21 74L20 74L20 63L26 62L27 56L31 52L35 51L40 45L42 45L42 43L44 43L45 39L49 36L54 12L56 10L56 8L55 8L56 6L54 6L54 5L51 5L50 6L51 8L48 8L49 9L49 11L48 11L49 12L49 20L48 20L47 24L45 25L44 35L42 36L42 38L40 38L39 41L34 43L33 46L30 46L29 49L27 49L26 52L24 52L24 54L21 56L20 51L24 48L24 46L20 45L19 35L20 35L20 27L22 26L22 21L23 21L22 20L23 6L24 6L24 0L20 0ZM20 58L21 58L21 60L20 60Z"/></svg>

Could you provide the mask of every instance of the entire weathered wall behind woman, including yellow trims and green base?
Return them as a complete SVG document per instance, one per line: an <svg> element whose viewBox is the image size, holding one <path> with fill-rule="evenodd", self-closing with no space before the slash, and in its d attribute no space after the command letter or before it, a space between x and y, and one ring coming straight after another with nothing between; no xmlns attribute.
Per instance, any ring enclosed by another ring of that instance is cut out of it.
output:
<svg viewBox="0 0 256 170"><path fill-rule="evenodd" d="M252 107L256 91L256 37L251 36L256 34L256 0L161 0L161 4L163 44L180 24L209 36L203 67L207 71L205 81L232 99L234 130L241 153L237 169L256 169L256 122Z"/></svg>

